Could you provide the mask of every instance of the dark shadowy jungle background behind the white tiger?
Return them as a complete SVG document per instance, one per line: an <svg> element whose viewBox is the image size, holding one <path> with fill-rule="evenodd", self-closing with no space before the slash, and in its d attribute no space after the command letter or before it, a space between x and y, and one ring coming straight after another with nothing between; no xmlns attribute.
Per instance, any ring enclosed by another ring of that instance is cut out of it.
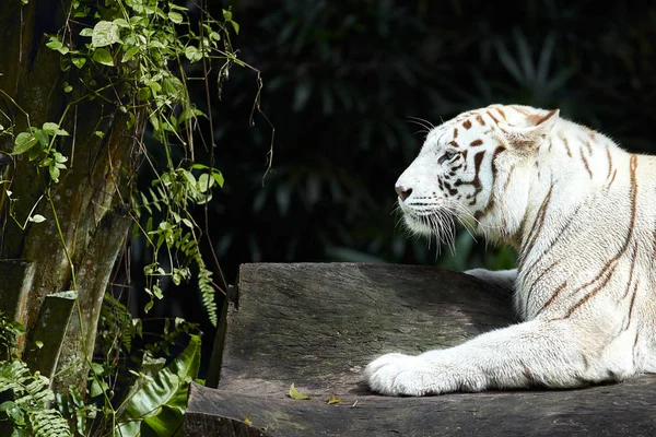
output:
<svg viewBox="0 0 656 437"><path fill-rule="evenodd" d="M654 150L655 8L555 0L208 2L216 17L229 5L241 25L233 46L261 71L261 108L276 135L262 185L272 130L257 114L249 122L256 74L233 68L211 114L225 186L209 221L227 283L245 262L512 265L514 253L476 244L467 233L455 256L437 256L434 241L429 248L397 226L394 182L423 141L409 117L440 123L492 103L558 107L625 149ZM203 101L198 83L192 93ZM134 276L148 262L141 253L134 240ZM196 285L166 292L148 317L199 322L207 358L214 330Z"/></svg>

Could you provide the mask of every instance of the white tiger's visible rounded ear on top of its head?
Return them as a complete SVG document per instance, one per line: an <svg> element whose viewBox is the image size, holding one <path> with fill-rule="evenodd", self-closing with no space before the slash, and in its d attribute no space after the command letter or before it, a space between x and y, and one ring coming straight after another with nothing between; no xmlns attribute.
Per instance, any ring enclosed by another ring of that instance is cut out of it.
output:
<svg viewBox="0 0 656 437"><path fill-rule="evenodd" d="M530 114L523 115L522 126L504 126L509 145L518 150L536 150L560 119L559 115L559 109L534 109Z"/></svg>

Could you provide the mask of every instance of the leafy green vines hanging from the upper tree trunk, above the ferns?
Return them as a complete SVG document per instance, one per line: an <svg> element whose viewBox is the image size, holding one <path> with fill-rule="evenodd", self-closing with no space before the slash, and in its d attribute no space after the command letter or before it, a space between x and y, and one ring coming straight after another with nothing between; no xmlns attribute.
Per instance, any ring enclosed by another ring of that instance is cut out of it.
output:
<svg viewBox="0 0 656 437"><path fill-rule="evenodd" d="M69 137L61 126L68 122L67 116L75 105L92 99L117 104L128 116L128 128L148 119L152 139L160 143L166 162L163 169L151 166L151 187L145 193L134 190L131 197L137 234L143 236L153 253L152 262L144 268L144 290L151 297L145 311L153 299L163 297L163 277L177 285L191 277L194 265L202 302L215 326L214 295L223 290L212 280L213 273L201 255L203 229L191 210L212 199L212 190L223 186L223 176L212 167L213 160L210 166L196 163L199 117L207 116L187 92L187 81L195 78L187 76L185 66L202 62L207 69L206 62L222 60L220 80L227 78L231 66L244 66L230 43L229 29L238 32L238 24L226 10L223 22L203 14L195 27L186 7L160 0L112 0L103 5L95 0L74 0L68 16L46 45L61 55L62 71L69 75L61 91L71 96L69 105L57 122L45 122L42 128L30 126L23 132L4 130L3 134L14 135L12 155L26 155L39 169L47 169L47 184L57 184L70 158L58 149L59 139ZM118 102L109 101L107 93ZM104 132L95 134L103 137ZM145 151L143 144L140 147ZM213 145L210 151L213 153ZM46 197L49 200L49 190ZM25 227L11 211L10 215L21 228ZM42 217L28 217L35 218ZM161 251L165 252L164 263Z"/></svg>

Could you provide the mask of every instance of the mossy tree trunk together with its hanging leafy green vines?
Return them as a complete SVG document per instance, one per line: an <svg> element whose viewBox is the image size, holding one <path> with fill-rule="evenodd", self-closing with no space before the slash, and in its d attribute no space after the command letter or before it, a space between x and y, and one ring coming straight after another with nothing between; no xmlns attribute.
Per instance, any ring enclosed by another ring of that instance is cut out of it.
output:
<svg viewBox="0 0 656 437"><path fill-rule="evenodd" d="M200 8L201 19L191 22L186 2L5 3L0 310L26 329L19 355L32 370L55 377L56 391L84 392L102 303L131 229L153 252L145 309L163 296L163 276L178 284L196 274L216 322L214 295L224 283L213 279L218 264L201 256L207 228L190 211L211 200L223 177L213 167L213 141L202 141L210 162L196 162L198 121L207 115L190 99L185 67L197 63L207 81L218 66L221 82L233 64L248 66L232 50L238 25L230 10L219 22ZM203 103L211 107L209 95ZM147 129L163 167L147 151ZM139 192L142 165L155 176Z"/></svg>

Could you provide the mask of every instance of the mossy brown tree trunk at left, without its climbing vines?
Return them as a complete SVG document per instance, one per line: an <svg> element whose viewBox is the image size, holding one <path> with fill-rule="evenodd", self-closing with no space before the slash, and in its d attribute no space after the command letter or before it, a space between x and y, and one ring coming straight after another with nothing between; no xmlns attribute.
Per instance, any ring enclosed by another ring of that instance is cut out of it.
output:
<svg viewBox="0 0 656 437"><path fill-rule="evenodd" d="M0 123L11 125L13 135L0 137L0 150L11 152L13 137L30 126L60 122L68 105L62 82L77 83L79 78L75 71L62 72L59 54L45 46L46 34L63 25L70 0L5 3L0 7L0 108L5 117ZM69 157L69 169L62 170L51 189L47 169L38 172L27 156L15 156L3 172L8 182L0 193L0 310L32 330L46 296L77 284L79 299L71 322L54 323L50 331L56 339L61 332L55 330L66 330L57 365L58 371L65 371L55 381L60 390L77 385L84 391L86 385L86 361L93 352L103 296L131 223L122 204L141 126L137 120L128 129L117 105L89 101L68 108L62 128L71 135L59 138L57 149ZM26 222L23 231L10 209L21 223L31 212L46 221ZM49 338L32 340L47 343ZM33 347L24 341L22 346Z"/></svg>

